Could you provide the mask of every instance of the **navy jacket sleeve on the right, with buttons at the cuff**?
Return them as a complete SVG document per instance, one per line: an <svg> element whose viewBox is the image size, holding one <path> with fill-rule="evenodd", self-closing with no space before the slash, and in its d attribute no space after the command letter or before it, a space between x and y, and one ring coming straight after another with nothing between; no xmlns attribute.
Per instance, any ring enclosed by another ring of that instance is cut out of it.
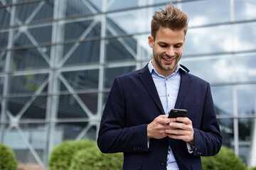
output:
<svg viewBox="0 0 256 170"><path fill-rule="evenodd" d="M195 156L213 156L218 154L222 145L222 137L220 135L220 128L214 111L213 99L210 93L210 84L208 84L203 106L201 128L194 128L193 130L195 137L193 154Z"/></svg>

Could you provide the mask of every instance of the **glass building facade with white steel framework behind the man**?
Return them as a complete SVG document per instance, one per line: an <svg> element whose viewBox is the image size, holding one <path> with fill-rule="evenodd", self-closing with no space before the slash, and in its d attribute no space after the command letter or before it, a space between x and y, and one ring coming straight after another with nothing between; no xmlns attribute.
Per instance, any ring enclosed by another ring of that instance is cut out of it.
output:
<svg viewBox="0 0 256 170"><path fill-rule="evenodd" d="M114 77L151 60L164 0L0 0L0 142L47 166L63 140L97 139ZM181 64L210 83L223 145L256 166L256 1L178 0Z"/></svg>

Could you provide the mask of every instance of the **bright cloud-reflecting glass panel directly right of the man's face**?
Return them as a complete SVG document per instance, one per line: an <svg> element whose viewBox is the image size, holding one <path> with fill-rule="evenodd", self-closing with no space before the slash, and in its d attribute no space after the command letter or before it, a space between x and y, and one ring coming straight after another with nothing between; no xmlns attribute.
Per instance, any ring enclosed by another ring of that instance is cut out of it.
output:
<svg viewBox="0 0 256 170"><path fill-rule="evenodd" d="M183 55L230 52L233 50L231 26L188 29Z"/></svg>

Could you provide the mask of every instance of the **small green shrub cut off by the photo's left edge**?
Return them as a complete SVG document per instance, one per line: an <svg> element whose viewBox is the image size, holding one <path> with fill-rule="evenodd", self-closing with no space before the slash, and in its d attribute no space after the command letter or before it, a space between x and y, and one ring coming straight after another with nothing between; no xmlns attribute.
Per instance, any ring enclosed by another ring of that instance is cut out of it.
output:
<svg viewBox="0 0 256 170"><path fill-rule="evenodd" d="M0 170L16 170L17 162L14 152L0 143Z"/></svg>

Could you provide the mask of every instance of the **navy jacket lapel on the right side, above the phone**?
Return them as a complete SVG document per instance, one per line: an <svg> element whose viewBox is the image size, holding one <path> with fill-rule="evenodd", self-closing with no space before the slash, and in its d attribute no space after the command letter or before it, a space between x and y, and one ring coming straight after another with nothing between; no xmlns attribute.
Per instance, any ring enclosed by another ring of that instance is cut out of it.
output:
<svg viewBox="0 0 256 170"><path fill-rule="evenodd" d="M186 72L181 71L181 84L180 88L178 90L178 97L175 103L174 108L181 108L181 104L186 96L186 93L188 91L188 86L190 84L191 77Z"/></svg>

